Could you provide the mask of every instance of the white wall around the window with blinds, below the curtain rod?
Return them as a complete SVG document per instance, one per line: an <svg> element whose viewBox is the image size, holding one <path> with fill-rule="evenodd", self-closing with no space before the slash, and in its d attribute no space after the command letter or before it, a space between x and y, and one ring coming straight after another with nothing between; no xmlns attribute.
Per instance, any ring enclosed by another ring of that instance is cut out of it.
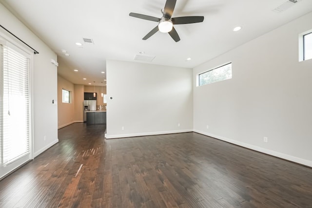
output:
<svg viewBox="0 0 312 208"><path fill-rule="evenodd" d="M0 24L36 49L33 68L34 156L58 140L57 55L0 4ZM52 100L55 104L52 104ZM44 140L45 136L45 140Z"/></svg>

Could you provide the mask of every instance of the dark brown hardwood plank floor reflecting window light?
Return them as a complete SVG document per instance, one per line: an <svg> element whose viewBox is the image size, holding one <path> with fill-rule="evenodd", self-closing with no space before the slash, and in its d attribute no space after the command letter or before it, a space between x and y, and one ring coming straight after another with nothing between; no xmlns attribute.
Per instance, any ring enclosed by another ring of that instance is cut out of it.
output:
<svg viewBox="0 0 312 208"><path fill-rule="evenodd" d="M0 208L312 208L312 169L198 133L72 124L0 181Z"/></svg>

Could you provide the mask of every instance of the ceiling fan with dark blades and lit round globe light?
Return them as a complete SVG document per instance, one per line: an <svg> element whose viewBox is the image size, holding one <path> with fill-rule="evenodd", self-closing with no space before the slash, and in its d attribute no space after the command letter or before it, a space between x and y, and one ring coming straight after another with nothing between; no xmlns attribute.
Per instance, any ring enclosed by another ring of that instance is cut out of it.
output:
<svg viewBox="0 0 312 208"><path fill-rule="evenodd" d="M171 38L173 38L176 42L180 40L179 35L176 32L176 29L173 27L174 24L191 24L204 21L203 16L187 16L187 17L177 17L171 18L172 14L174 13L174 9L176 6L176 0L167 0L165 7L161 9L162 18L156 18L148 15L142 15L137 13L130 13L131 17L139 18L139 19L146 19L150 21L158 22L158 25L151 30L146 36L142 39L146 40L153 36L158 30L162 33L169 33Z"/></svg>

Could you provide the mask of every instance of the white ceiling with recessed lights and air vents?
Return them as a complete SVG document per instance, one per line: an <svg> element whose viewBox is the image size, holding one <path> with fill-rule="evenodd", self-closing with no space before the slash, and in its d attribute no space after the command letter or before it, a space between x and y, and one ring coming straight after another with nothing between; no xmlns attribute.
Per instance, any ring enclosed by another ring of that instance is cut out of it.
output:
<svg viewBox="0 0 312 208"><path fill-rule="evenodd" d="M96 85L105 84L106 74L101 72L106 72L107 59L135 61L134 56L144 51L156 56L152 64L193 68L312 11L312 0L282 13L272 10L286 0L177 0L173 17L204 16L204 21L175 25L179 42L160 32L142 40L157 22L129 13L161 18L165 1L0 0L55 51L60 76L75 84ZM235 26L242 30L233 32ZM75 43L83 43L82 38L92 38L94 44L79 48ZM188 57L192 60L186 61Z"/></svg>

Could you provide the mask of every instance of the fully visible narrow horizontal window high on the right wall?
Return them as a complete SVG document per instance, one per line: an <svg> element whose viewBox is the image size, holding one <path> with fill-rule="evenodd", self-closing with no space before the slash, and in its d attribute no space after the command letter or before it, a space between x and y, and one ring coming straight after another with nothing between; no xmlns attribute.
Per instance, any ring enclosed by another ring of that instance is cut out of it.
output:
<svg viewBox="0 0 312 208"><path fill-rule="evenodd" d="M214 68L198 75L198 86L232 78L232 63Z"/></svg>

